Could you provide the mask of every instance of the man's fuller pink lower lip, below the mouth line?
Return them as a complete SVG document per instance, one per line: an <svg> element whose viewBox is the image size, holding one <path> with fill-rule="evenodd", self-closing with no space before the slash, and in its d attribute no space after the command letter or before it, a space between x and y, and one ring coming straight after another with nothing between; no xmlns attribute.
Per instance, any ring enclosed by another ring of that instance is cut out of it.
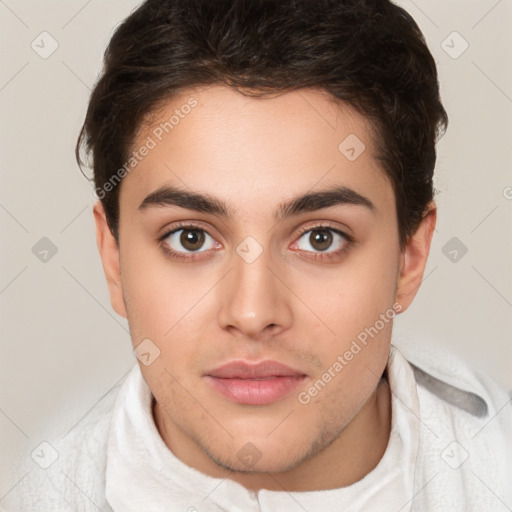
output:
<svg viewBox="0 0 512 512"><path fill-rule="evenodd" d="M306 378L271 377L268 379L221 379L208 375L209 384L229 400L246 405L268 405L293 391Z"/></svg>

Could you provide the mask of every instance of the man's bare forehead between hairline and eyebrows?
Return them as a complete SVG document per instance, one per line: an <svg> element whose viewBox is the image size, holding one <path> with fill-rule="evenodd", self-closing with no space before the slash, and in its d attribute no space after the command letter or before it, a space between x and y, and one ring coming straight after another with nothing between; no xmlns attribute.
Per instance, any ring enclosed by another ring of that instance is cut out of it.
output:
<svg viewBox="0 0 512 512"><path fill-rule="evenodd" d="M183 91L145 119L134 153L121 193L133 205L166 184L238 205L332 184L377 204L394 198L368 121L316 89L263 98L220 85Z"/></svg>

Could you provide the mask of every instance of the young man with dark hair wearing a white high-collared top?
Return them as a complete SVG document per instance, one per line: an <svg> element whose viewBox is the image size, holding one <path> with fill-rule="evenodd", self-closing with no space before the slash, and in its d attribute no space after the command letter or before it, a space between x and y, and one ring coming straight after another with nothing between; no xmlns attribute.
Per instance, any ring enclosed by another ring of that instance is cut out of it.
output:
<svg viewBox="0 0 512 512"><path fill-rule="evenodd" d="M20 508L510 509L508 395L391 343L446 124L423 36L388 1L132 13L77 155L138 364Z"/></svg>

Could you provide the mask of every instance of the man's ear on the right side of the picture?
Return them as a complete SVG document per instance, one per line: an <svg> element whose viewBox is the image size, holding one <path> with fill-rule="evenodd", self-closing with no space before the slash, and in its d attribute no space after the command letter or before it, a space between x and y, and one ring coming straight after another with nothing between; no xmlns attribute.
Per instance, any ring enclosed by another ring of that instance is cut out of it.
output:
<svg viewBox="0 0 512 512"><path fill-rule="evenodd" d="M421 285L427 264L430 243L436 227L437 208L430 203L427 213L416 232L410 236L400 257L400 274L396 290L396 301L402 306L400 313L412 303Z"/></svg>

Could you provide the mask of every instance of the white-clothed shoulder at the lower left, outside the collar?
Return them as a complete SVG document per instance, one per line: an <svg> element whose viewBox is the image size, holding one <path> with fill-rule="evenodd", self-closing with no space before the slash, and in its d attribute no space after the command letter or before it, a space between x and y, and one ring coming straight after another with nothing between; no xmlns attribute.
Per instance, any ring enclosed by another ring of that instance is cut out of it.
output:
<svg viewBox="0 0 512 512"><path fill-rule="evenodd" d="M106 448L120 384L68 432L37 445L13 469L17 485L0 502L5 512L109 510L105 501Z"/></svg>

